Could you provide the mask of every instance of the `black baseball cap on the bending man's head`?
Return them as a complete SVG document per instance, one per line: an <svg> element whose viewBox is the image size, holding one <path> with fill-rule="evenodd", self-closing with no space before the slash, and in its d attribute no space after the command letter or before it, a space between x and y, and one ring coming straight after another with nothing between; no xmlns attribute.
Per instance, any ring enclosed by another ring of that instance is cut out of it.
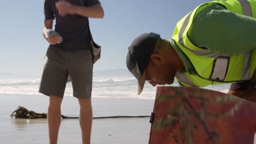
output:
<svg viewBox="0 0 256 144"><path fill-rule="evenodd" d="M141 94L146 79L146 69L155 45L160 38L156 33L144 33L132 41L126 57L126 65L138 80L138 94Z"/></svg>

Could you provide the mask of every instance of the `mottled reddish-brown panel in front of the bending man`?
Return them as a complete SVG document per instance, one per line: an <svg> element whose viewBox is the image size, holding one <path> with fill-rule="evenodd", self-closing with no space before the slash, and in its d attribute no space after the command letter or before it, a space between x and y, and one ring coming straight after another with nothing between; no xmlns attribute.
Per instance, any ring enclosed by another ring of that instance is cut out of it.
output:
<svg viewBox="0 0 256 144"><path fill-rule="evenodd" d="M253 143L256 105L194 87L158 87L149 144Z"/></svg>

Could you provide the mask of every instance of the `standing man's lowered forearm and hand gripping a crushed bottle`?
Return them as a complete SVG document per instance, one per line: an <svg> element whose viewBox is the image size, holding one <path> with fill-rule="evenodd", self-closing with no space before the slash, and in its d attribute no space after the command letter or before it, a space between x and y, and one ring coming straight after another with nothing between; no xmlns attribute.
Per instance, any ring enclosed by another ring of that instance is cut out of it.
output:
<svg viewBox="0 0 256 144"><path fill-rule="evenodd" d="M48 43L56 44L60 40L60 38L59 37L49 38L46 33L47 29L53 29L53 19L44 21L43 36L48 41Z"/></svg>

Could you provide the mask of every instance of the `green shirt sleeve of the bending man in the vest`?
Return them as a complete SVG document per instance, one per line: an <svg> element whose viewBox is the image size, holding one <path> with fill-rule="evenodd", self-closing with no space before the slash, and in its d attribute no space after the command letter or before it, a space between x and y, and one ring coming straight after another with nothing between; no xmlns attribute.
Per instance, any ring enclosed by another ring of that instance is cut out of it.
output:
<svg viewBox="0 0 256 144"><path fill-rule="evenodd" d="M221 54L256 48L256 19L232 13L220 4L197 10L188 37L193 44Z"/></svg>

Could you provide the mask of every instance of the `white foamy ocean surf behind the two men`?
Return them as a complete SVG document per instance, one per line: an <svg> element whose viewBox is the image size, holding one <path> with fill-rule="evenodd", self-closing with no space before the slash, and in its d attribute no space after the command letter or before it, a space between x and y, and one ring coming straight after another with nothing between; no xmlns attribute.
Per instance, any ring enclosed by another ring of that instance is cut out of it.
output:
<svg viewBox="0 0 256 144"><path fill-rule="evenodd" d="M40 79L14 79L0 80L1 94L38 95ZM172 86L178 86L174 81ZM214 85L205 87L213 91L227 93L230 85ZM95 77L92 84L92 97L94 98L136 98L154 99L156 87L146 82L141 95L137 95L137 80L133 77ZM68 83L65 96L73 96L72 84Z"/></svg>

